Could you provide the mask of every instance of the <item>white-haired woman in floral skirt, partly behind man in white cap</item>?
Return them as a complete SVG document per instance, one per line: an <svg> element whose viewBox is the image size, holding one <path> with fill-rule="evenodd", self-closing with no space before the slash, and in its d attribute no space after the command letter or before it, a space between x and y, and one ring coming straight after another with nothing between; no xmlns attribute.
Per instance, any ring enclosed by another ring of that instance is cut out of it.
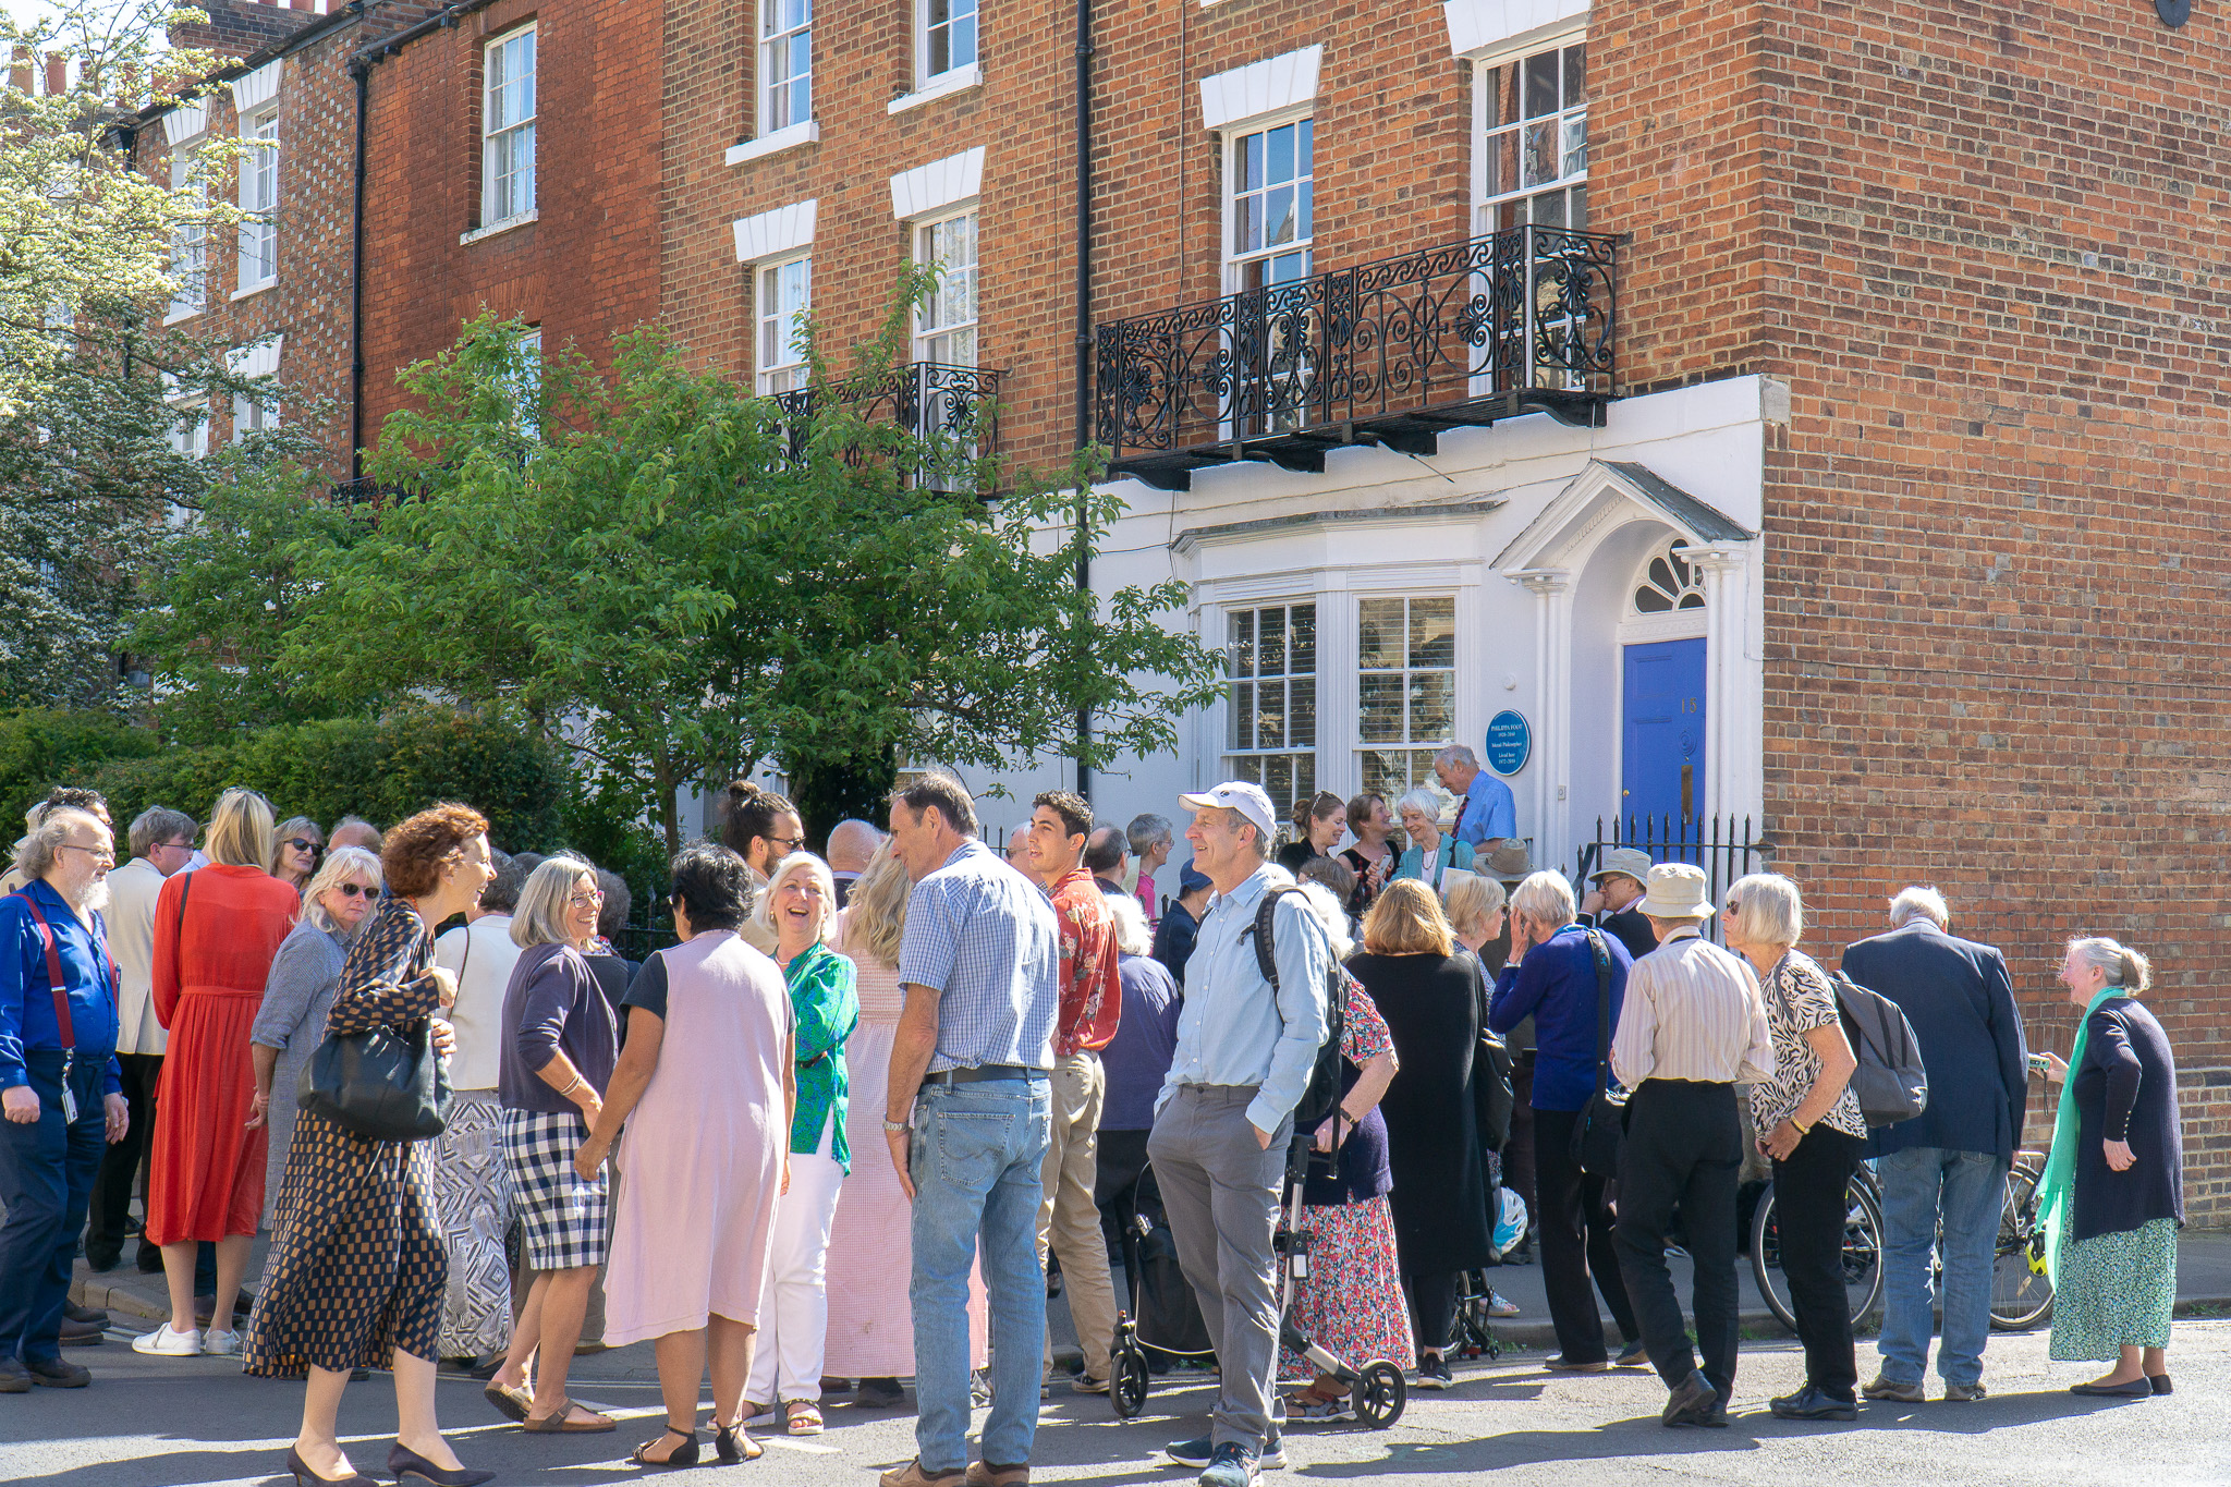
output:
<svg viewBox="0 0 2231 1487"><path fill-rule="evenodd" d="M1323 883L1301 890L1332 939L1332 954L1348 959L1348 914ZM1410 1309L1401 1293L1394 1255L1394 1215L1388 1208L1388 1128L1379 1097L1394 1083L1394 1034L1370 994L1350 983L1348 1028L1341 1034L1345 1061L1341 1095L1341 1146L1334 1170L1312 1162L1303 1186L1303 1226L1310 1231L1310 1275L1294 1286L1292 1318L1301 1335L1350 1367L1385 1358L1397 1369L1412 1364ZM1316 1128L1316 1150L1332 1153L1332 1119ZM1348 1389L1319 1373L1305 1358L1278 1349L1278 1378L1310 1380L1287 1396L1292 1420L1339 1420L1354 1413Z"/></svg>

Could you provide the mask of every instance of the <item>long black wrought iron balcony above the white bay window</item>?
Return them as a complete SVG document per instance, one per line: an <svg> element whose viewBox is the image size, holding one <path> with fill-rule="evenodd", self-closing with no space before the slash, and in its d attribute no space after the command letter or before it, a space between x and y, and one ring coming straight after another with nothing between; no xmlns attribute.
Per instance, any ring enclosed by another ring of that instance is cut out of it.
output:
<svg viewBox="0 0 2231 1487"><path fill-rule="evenodd" d="M1615 397L1617 245L1513 227L1098 328L1109 473L1185 490L1191 470L1325 450L1430 455L1441 430Z"/></svg>

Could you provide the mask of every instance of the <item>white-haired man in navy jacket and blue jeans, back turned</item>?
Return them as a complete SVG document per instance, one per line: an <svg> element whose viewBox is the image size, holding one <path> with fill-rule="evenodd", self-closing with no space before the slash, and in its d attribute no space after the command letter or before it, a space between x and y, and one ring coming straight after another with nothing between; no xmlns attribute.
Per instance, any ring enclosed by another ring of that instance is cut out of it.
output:
<svg viewBox="0 0 2231 1487"><path fill-rule="evenodd" d="M1874 1130L1883 1179L1883 1358L1870 1400L1925 1398L1930 1251L1943 1226L1943 1340L1937 1371L1948 1400L1981 1400L1990 1342L2006 1168L2030 1101L2028 1041L2006 956L1950 932L1945 896L1912 885L1890 901L1890 932L1843 952L1843 972L1890 997L1914 1026L1930 1104L1910 1121ZM1981 1159L1979 1159L1981 1157Z"/></svg>

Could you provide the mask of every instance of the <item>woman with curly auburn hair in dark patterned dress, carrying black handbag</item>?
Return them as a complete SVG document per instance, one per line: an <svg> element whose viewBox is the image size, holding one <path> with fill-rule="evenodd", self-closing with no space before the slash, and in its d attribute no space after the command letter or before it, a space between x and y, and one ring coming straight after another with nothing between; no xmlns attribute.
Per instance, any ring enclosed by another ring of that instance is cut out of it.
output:
<svg viewBox="0 0 2231 1487"><path fill-rule="evenodd" d="M348 947L328 1037L426 1030L448 972L433 963L433 930L480 898L493 876L489 823L464 805L435 805L402 823L379 852L388 898ZM453 1039L435 1023L446 1057ZM357 1367L395 1371L395 1447L388 1474L428 1487L475 1487L435 1422L435 1333L448 1262L433 1204L433 1141L368 1141L303 1110L279 1193L279 1233L241 1362L261 1378L310 1376L301 1433L286 1469L303 1483L373 1487L341 1451L335 1416Z"/></svg>

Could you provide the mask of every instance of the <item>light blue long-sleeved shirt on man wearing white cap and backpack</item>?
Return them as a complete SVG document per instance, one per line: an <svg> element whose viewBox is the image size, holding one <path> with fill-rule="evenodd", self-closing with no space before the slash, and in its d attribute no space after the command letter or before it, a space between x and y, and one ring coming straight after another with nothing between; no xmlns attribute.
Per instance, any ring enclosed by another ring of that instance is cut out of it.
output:
<svg viewBox="0 0 2231 1487"><path fill-rule="evenodd" d="M1292 881L1283 867L1265 863L1229 894L1209 898L1194 956L1185 963L1178 1052L1162 1077L1156 1112L1180 1083L1256 1086L1247 1104L1256 1130L1278 1130L1278 1121L1301 1104L1325 1041L1332 941L1301 894L1278 898L1269 934L1278 963L1276 997L1254 947L1263 890Z"/></svg>

